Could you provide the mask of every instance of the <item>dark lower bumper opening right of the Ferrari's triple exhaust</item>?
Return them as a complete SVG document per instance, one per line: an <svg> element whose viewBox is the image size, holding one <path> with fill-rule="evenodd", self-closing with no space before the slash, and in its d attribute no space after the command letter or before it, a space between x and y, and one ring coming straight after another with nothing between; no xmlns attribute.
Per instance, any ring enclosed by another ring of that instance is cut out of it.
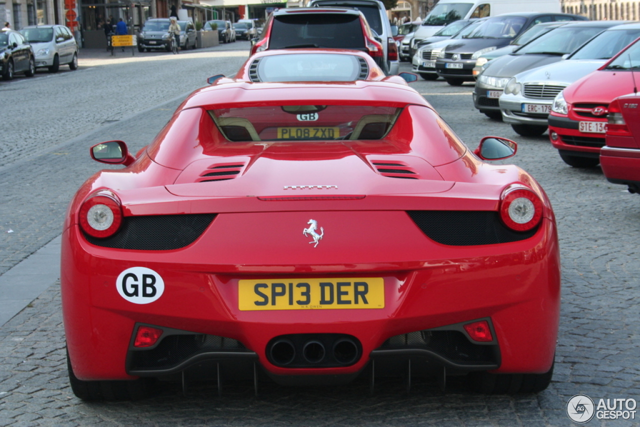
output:
<svg viewBox="0 0 640 427"><path fill-rule="evenodd" d="M460 364L496 364L495 347L497 346L474 344L456 330L422 330L391 337L380 349L422 348Z"/></svg>

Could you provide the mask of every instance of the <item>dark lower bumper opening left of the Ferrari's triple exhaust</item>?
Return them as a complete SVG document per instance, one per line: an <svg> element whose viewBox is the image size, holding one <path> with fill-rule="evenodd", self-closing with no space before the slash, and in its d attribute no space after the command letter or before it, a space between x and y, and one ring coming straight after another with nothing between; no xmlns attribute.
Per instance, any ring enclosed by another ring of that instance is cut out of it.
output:
<svg viewBox="0 0 640 427"><path fill-rule="evenodd" d="M169 335L151 350L131 351L129 370L170 369L198 353L242 350L246 348L240 341L216 335Z"/></svg>

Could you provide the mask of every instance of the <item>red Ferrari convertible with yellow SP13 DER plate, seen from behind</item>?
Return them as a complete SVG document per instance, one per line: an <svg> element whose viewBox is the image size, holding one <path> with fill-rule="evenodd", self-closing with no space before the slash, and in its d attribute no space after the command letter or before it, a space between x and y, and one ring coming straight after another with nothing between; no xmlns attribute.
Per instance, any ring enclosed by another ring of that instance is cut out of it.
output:
<svg viewBox="0 0 640 427"><path fill-rule="evenodd" d="M468 375L550 382L554 213L538 182L471 152L406 84L216 83L148 147L102 170L63 230L73 391L135 398L148 378L346 383Z"/></svg>

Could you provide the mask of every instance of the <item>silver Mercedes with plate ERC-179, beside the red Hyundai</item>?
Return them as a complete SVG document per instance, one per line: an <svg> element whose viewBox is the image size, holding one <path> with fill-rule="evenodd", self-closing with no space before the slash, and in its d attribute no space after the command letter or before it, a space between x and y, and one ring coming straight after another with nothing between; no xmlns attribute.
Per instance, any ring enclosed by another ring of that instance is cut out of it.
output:
<svg viewBox="0 0 640 427"><path fill-rule="evenodd" d="M604 65L638 37L640 24L617 25L602 31L565 60L516 74L498 100L502 121L520 135L544 133L556 95Z"/></svg>

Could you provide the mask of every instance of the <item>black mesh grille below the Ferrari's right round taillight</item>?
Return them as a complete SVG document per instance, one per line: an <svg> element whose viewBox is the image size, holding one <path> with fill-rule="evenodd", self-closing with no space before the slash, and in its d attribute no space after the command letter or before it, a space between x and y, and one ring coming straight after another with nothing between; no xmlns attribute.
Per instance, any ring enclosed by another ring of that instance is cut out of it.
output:
<svg viewBox="0 0 640 427"><path fill-rule="evenodd" d="M494 211L407 211L426 236L442 245L494 245L531 238L538 227L508 229Z"/></svg>

